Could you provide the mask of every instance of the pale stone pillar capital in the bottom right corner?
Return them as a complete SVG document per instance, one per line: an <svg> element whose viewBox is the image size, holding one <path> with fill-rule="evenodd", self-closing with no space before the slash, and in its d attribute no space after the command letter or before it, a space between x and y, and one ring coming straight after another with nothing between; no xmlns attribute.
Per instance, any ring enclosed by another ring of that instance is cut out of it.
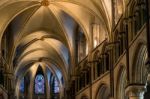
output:
<svg viewBox="0 0 150 99"><path fill-rule="evenodd" d="M139 85L129 85L125 93L129 99L144 99L144 92L146 91L146 86L144 84Z"/></svg>

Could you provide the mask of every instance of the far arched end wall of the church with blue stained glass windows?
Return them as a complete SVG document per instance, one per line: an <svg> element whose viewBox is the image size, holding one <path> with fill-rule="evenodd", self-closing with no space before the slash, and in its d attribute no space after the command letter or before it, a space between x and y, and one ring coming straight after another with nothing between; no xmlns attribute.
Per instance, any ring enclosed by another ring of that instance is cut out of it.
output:
<svg viewBox="0 0 150 99"><path fill-rule="evenodd" d="M27 72L23 73L24 75L17 77L17 99L61 99L64 97L62 74L58 70L56 72L51 70L47 65L39 64L31 66ZM33 74L31 68L35 71Z"/></svg>

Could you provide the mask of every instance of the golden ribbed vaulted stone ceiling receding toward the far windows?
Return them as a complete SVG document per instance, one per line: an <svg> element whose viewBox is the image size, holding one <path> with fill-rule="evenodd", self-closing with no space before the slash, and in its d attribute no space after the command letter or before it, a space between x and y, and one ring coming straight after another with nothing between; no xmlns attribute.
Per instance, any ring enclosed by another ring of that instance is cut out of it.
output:
<svg viewBox="0 0 150 99"><path fill-rule="evenodd" d="M40 62L61 71L65 80L75 65L75 34L80 27L92 47L92 24L111 31L111 0L0 0L0 43L11 26L8 70L15 75L31 70ZM109 38L109 37L108 37ZM9 67L10 66L10 67Z"/></svg>

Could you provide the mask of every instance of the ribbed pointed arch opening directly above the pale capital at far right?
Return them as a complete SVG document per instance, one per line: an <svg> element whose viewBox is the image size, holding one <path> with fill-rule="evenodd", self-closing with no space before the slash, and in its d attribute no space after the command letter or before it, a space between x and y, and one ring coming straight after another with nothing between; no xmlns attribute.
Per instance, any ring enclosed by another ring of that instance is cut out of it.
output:
<svg viewBox="0 0 150 99"><path fill-rule="evenodd" d="M147 79L147 71L145 68L145 63L147 59L147 48L142 42L137 44L135 47L134 56L132 59L132 71L131 71L131 82L145 84Z"/></svg>

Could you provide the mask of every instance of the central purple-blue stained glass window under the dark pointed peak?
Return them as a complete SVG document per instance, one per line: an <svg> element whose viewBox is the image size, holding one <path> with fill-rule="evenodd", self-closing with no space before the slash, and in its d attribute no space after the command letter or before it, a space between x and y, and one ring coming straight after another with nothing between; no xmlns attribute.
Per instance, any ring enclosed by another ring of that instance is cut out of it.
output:
<svg viewBox="0 0 150 99"><path fill-rule="evenodd" d="M35 93L36 94L44 94L44 76L42 74L38 74L35 77Z"/></svg>

